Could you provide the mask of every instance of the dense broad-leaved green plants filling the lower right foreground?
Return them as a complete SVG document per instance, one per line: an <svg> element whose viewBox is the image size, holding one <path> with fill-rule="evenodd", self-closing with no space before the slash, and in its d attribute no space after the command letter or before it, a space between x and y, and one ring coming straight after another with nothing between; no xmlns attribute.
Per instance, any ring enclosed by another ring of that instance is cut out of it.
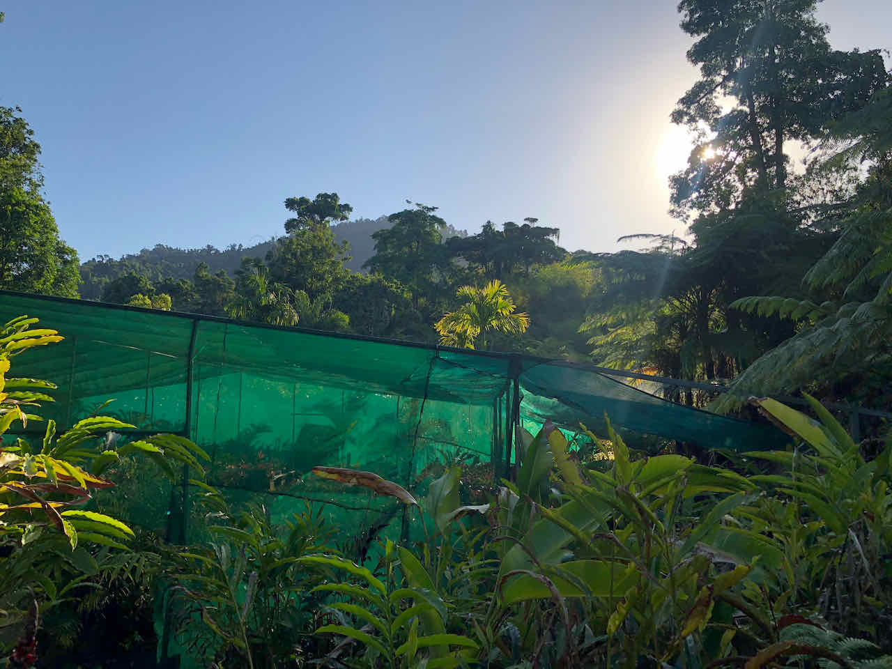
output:
<svg viewBox="0 0 892 669"><path fill-rule="evenodd" d="M746 457L792 465L789 474L744 477L672 453L635 459L609 426L607 471L599 460L580 468L550 423L535 436L518 429L516 483L488 504L463 505L461 470L448 469L422 502L424 540L386 542L376 570L301 559L347 577L317 588L335 617L317 632L343 639L323 661L406 665L401 650L448 639L462 648L419 665L888 661L877 643L892 444L867 461L817 402L821 422L760 406L807 445Z"/></svg>

